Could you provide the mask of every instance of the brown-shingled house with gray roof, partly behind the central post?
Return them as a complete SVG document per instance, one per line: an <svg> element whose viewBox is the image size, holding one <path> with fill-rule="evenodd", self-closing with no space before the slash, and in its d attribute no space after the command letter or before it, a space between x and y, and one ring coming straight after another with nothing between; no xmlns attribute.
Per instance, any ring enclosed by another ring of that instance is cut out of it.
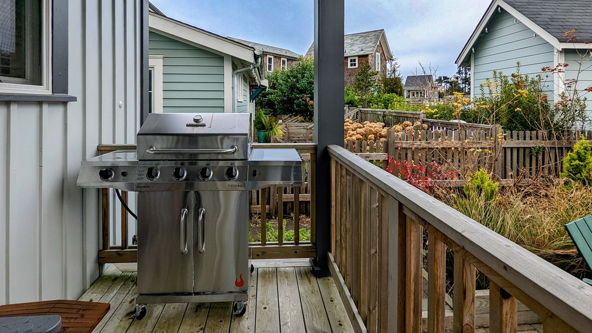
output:
<svg viewBox="0 0 592 333"><path fill-rule="evenodd" d="M353 84L360 66L366 61L372 71L378 71L378 75L387 73L387 60L392 60L392 53L388 47L384 29L349 34L343 36L343 39L345 54L343 81L346 85ZM308 48L305 57L314 57L314 43Z"/></svg>

